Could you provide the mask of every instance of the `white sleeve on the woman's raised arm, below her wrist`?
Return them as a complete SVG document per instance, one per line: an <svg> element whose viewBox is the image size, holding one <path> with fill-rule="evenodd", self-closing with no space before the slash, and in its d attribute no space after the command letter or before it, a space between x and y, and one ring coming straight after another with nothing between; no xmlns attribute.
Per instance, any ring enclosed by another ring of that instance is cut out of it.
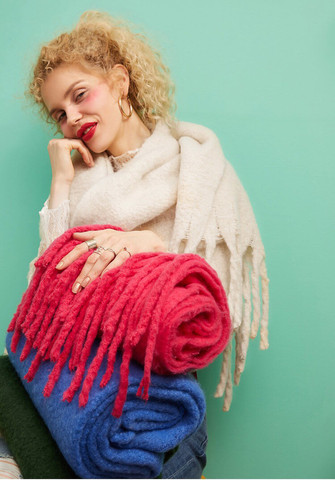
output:
<svg viewBox="0 0 335 480"><path fill-rule="evenodd" d="M34 263L51 243L69 228L70 201L64 200L57 208L49 208L49 197L45 201L40 215L40 245L35 257L29 264L28 284L35 271Z"/></svg>

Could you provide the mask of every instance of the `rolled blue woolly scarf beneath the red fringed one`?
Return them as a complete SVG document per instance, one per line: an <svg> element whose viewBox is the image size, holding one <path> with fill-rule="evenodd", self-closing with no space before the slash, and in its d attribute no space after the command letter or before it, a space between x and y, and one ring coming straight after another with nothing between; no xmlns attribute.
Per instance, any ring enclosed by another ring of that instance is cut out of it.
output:
<svg viewBox="0 0 335 480"><path fill-rule="evenodd" d="M12 336L12 333L7 335L7 348ZM26 374L35 355L31 351L23 362L20 361L24 342L22 336L16 353L8 348L10 361L20 378ZM93 360L98 343L93 343L88 363ZM104 368L106 363L104 358ZM42 392L53 368L50 361L41 364L33 382L24 382L64 457L81 478L157 477L162 470L164 452L191 435L204 418L204 394L191 374L161 376L153 373L149 400L143 402L138 398L136 392L143 367L135 361L129 364L129 388L123 414L115 418L110 409L118 390L120 364L118 354L114 374L103 389L99 386L102 369L99 370L85 407L79 407L78 401L62 401L62 392L74 375L68 364L62 369L49 398Z"/></svg>

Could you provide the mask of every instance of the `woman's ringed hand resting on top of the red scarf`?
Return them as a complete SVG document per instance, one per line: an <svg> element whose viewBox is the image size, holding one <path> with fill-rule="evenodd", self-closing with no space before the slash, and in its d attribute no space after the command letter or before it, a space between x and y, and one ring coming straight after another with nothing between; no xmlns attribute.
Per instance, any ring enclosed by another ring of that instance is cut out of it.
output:
<svg viewBox="0 0 335 480"><path fill-rule="evenodd" d="M166 251L166 247L159 236L149 230L119 232L108 228L106 230L77 232L73 234L73 238L82 240L83 243L74 247L70 253L61 259L56 266L58 270L64 270L83 253L87 252L86 240L94 239L97 246L101 247L98 252L92 251L88 257L80 275L72 286L73 293L80 292L82 288L87 287L99 275L122 265L135 253Z"/></svg>

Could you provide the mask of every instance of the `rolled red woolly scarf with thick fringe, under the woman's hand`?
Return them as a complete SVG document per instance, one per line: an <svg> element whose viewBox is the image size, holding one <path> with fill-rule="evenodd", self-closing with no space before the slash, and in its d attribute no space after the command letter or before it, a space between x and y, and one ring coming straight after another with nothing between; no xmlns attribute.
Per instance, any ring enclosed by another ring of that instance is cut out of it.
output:
<svg viewBox="0 0 335 480"><path fill-rule="evenodd" d="M35 263L35 274L8 331L14 331L13 352L20 334L27 338L21 360L32 347L37 349L26 380L34 378L42 361L54 363L45 396L51 394L69 359L70 370L76 372L63 399L71 402L82 385L80 406L86 405L105 358L108 361L100 386L108 384L116 353L122 348L121 380L113 409L118 417L126 400L131 358L144 365L138 395L147 400L151 370L177 374L207 366L226 347L231 322L215 270L194 254L133 255L121 267L73 294L71 285L92 251L62 272L55 266L80 243L73 239L73 232L102 228L115 227L75 227L50 245ZM99 348L85 370L97 337L101 337Z"/></svg>

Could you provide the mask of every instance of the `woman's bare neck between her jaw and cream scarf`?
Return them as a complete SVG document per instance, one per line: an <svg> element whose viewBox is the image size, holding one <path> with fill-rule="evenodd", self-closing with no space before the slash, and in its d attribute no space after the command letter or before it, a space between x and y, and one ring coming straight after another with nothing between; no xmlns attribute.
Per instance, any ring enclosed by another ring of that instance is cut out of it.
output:
<svg viewBox="0 0 335 480"><path fill-rule="evenodd" d="M107 149L107 154L118 157L130 150L136 150L150 135L148 127L144 125L137 113L133 112L130 118L123 120L119 135Z"/></svg>

